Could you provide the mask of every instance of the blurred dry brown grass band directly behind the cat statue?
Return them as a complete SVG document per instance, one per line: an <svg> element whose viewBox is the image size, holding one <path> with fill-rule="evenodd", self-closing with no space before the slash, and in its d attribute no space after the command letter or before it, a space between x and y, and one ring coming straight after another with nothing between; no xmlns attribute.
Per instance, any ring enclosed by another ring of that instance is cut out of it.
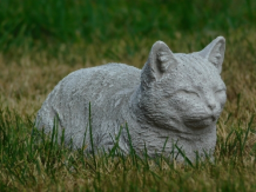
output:
<svg viewBox="0 0 256 192"><path fill-rule="evenodd" d="M214 36L214 35L212 35ZM256 112L256 67L255 67L255 43L254 31L235 31L230 37L226 37L226 53L223 64L222 78L227 86L228 102L225 111L236 113L236 117L247 119ZM210 37L208 37L210 39ZM207 39L207 40L208 40ZM203 37L206 45L208 41ZM129 40L127 40L129 41ZM139 52L133 56L125 53L127 42L116 40L113 45L74 46L69 48L68 55L62 53L66 46L60 47L56 57L47 55L45 51L32 51L27 54L19 54L19 57L6 58L0 54L0 93L4 106L9 106L18 111L20 115L33 115L51 92L59 80L72 71L80 68L103 65L107 62L122 62L141 68L146 61L148 52L154 40L136 40ZM187 45L191 44L192 51L198 51L199 42L193 36L181 37L177 33L176 39L167 39L166 43L174 52L189 52ZM250 44L250 45L249 45ZM252 46L252 47L250 47ZM85 49L76 53L78 49ZM119 58L104 57L105 53L116 51ZM17 52L22 52L18 50ZM84 61L86 55L86 61ZM69 60L75 60L70 65ZM237 95L241 94L240 112L237 113ZM224 111L222 117L226 117Z"/></svg>

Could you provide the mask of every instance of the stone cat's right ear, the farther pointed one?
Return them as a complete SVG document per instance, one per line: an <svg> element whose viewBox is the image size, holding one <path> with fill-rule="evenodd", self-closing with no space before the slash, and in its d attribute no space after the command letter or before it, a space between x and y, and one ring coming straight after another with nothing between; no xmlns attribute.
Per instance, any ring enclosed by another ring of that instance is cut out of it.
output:
<svg viewBox="0 0 256 192"><path fill-rule="evenodd" d="M219 73L221 73L224 60L225 44L225 38L219 36L199 52L199 55L208 59L218 69Z"/></svg>

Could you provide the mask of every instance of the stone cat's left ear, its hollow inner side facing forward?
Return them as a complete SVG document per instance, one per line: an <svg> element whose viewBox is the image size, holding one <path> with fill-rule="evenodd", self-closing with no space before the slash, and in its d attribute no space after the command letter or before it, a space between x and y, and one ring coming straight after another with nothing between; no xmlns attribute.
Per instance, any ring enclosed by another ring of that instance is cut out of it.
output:
<svg viewBox="0 0 256 192"><path fill-rule="evenodd" d="M163 41L157 41L152 46L148 60L142 69L142 73L150 73L150 75L155 80L159 80L164 73L168 71L172 66L177 65L177 60L172 51ZM144 74L145 75L145 74Z"/></svg>

